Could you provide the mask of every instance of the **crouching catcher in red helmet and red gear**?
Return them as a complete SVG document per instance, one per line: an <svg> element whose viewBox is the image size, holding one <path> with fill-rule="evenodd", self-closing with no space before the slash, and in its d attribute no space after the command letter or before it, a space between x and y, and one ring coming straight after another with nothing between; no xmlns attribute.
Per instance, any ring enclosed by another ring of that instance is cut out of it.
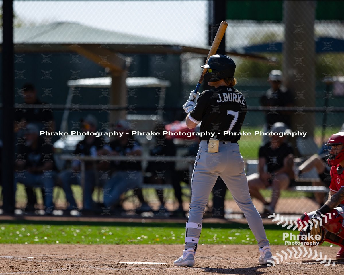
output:
<svg viewBox="0 0 344 275"><path fill-rule="evenodd" d="M333 134L326 145L326 165L332 166L329 198L319 210L305 212L298 219L299 240L307 245L313 241L312 236L320 235L317 245L326 241L341 246L336 259L344 260L344 132Z"/></svg>

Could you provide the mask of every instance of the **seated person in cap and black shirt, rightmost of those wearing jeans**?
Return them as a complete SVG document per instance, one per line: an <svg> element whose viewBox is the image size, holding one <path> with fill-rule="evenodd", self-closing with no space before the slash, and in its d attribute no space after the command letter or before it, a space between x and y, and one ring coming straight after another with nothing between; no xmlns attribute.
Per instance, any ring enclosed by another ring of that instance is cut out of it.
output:
<svg viewBox="0 0 344 275"><path fill-rule="evenodd" d="M140 156L142 148L140 143L131 135L129 123L125 120L119 120L115 130L123 132L123 135L110 142L108 154L110 156ZM121 195L130 189L142 187L142 183L141 161L135 159L116 161L114 172L103 190L105 207L119 207Z"/></svg>

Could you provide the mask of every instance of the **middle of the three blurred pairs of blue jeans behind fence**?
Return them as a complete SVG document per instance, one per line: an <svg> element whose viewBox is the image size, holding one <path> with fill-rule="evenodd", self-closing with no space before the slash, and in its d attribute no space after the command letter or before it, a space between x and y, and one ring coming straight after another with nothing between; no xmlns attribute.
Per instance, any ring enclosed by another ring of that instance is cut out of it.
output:
<svg viewBox="0 0 344 275"><path fill-rule="evenodd" d="M96 181L96 174L97 177L99 177L98 173L95 173L94 170L86 170L85 171L85 187L84 187L84 201L83 201L83 209L85 210L92 210L93 208L93 200L92 200L92 193L93 189L95 187L95 181ZM71 185L81 185L81 173L80 172L74 172L72 170L64 170L62 171L58 177L62 181L62 188L66 193L66 199L67 202L69 202L68 210L78 209L73 192L71 189ZM104 183L104 180L106 178L100 177L99 181L100 183Z"/></svg>

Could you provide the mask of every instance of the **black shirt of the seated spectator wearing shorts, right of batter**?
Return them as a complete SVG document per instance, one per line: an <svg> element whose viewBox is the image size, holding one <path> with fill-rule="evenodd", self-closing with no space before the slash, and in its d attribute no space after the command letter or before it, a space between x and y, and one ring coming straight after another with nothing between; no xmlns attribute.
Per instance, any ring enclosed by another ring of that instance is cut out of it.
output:
<svg viewBox="0 0 344 275"><path fill-rule="evenodd" d="M292 153L293 148L285 142L277 148L272 148L270 142L267 142L259 148L259 157L265 158L268 173L274 173L282 168L284 158Z"/></svg>

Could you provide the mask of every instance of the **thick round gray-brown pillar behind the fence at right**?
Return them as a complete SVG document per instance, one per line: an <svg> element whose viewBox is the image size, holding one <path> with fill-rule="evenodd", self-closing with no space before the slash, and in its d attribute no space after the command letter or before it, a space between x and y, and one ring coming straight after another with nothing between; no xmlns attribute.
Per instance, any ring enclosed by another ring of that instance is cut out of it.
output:
<svg viewBox="0 0 344 275"><path fill-rule="evenodd" d="M285 24L283 54L284 85L294 95L294 105L315 106L315 1L284 1ZM315 115L296 111L292 115L292 130L307 132L313 137Z"/></svg>

